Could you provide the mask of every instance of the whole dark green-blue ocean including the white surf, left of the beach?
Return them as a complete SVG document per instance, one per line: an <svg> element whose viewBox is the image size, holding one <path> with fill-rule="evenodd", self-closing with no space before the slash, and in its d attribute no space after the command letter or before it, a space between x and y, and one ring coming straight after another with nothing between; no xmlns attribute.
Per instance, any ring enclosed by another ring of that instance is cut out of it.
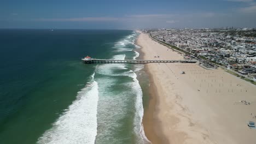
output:
<svg viewBox="0 0 256 144"><path fill-rule="evenodd" d="M138 81L144 65L80 61L136 59L137 36L0 29L0 143L148 143L142 125L148 83Z"/></svg>

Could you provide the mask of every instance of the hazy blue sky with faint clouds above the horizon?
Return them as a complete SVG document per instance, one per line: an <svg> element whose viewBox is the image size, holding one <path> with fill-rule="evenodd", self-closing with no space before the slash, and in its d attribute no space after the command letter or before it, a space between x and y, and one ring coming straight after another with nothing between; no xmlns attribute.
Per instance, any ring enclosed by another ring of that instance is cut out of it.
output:
<svg viewBox="0 0 256 144"><path fill-rule="evenodd" d="M1 0L0 28L256 27L256 0Z"/></svg>

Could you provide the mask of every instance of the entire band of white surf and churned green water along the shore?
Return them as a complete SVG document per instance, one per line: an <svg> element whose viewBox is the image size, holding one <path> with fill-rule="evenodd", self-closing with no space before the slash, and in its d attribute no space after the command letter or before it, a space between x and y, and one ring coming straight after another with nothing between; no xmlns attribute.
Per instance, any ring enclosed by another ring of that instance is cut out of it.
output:
<svg viewBox="0 0 256 144"><path fill-rule="evenodd" d="M133 51L138 48L136 37L133 32L117 41L110 59L136 59L139 56ZM143 64L96 65L94 79L81 89L77 100L38 143L150 143L143 130L142 89L136 75L143 67ZM97 100L92 96L95 94Z"/></svg>

